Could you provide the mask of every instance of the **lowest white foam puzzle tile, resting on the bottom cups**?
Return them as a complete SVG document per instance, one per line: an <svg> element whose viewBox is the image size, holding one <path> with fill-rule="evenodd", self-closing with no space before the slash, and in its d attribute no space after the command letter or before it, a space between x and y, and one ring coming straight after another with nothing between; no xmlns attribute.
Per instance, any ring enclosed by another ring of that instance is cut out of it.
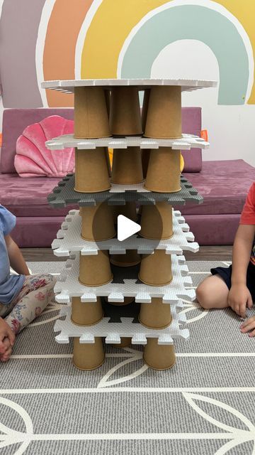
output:
<svg viewBox="0 0 255 455"><path fill-rule="evenodd" d="M178 314L176 306L171 307L172 321L170 326L161 329L146 328L140 323L133 323L132 318L121 318L120 323L109 323L109 318L103 318L94 326L77 326L72 323L71 307L66 306L60 311L64 320L58 319L54 331L60 331L55 337L58 343L69 343L69 338L79 338L80 343L95 343L95 337L106 338L106 343L120 343L120 338L132 338L132 344L147 344L147 338L158 338L159 345L174 343L176 338L189 337L187 328L181 328L180 323L186 322L186 314Z"/></svg>

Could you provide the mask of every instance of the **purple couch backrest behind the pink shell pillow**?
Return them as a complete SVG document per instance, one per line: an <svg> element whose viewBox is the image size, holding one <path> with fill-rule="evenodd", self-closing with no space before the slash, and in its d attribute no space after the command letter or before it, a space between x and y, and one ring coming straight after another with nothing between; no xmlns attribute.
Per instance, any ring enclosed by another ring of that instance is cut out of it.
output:
<svg viewBox="0 0 255 455"><path fill-rule="evenodd" d="M65 119L74 118L74 109L5 109L3 115L3 142L0 156L1 173L16 173L14 156L16 141L28 125L40 122L50 115L60 115Z"/></svg>

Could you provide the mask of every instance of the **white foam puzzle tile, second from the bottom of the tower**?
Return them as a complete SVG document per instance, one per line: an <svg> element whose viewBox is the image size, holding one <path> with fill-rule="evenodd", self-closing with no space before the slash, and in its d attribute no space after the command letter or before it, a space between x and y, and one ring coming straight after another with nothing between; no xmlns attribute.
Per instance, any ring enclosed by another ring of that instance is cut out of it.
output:
<svg viewBox="0 0 255 455"><path fill-rule="evenodd" d="M163 303L172 304L179 299L193 301L196 299L192 286L192 279L188 276L188 267L185 257L171 256L173 279L165 286L149 286L137 278L139 266L114 267L113 281L103 286L88 287L79 282L79 254L73 254L68 259L65 268L55 284L55 299L58 303L69 304L73 296L81 297L81 301L96 301L97 296L108 297L108 301L124 301L124 297L135 297L135 301L149 303L152 297L162 298Z"/></svg>

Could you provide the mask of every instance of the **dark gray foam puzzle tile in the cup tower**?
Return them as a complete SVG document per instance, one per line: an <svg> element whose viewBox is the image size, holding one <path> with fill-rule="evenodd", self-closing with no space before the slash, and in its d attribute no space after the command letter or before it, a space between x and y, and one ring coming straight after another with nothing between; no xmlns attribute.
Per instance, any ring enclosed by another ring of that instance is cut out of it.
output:
<svg viewBox="0 0 255 455"><path fill-rule="evenodd" d="M67 174L52 190L47 198L54 208L66 207L68 204L96 205L107 201L109 205L125 205L126 201L135 201L141 205L155 204L165 201L171 205L184 205L186 202L203 203L196 188L181 176L181 191L177 193L154 193L143 188L143 183L138 185L113 185L111 190L101 193L77 193L74 191L74 174Z"/></svg>

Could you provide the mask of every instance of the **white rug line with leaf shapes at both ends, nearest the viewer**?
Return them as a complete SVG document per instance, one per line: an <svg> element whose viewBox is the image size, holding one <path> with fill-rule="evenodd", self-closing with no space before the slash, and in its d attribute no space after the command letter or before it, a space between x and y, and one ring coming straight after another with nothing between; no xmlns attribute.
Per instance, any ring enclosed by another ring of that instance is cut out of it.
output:
<svg viewBox="0 0 255 455"><path fill-rule="evenodd" d="M10 407L11 409L18 412L21 419L26 427L26 432L18 432L11 428L6 427L6 425L0 423L0 449L8 446L12 446L13 444L21 444L18 449L13 453L13 455L22 455L31 441L77 441L77 440L147 440L147 439L184 439L184 440L197 440L197 439L210 439L210 440L222 440L222 439L229 439L225 445L220 447L214 455L225 455L230 449L234 447L240 446L241 444L245 444L248 441L254 441L255 439L255 428L254 425L247 419L244 414L235 410L233 407L226 405L224 402L220 402L219 400L214 400L210 397L206 397L203 395L197 395L190 392L183 392L183 397L185 397L186 401L188 402L193 410L198 412L201 417L205 418L210 422L210 424L214 424L216 427L225 430L225 432L219 433L42 433L42 434L34 434L33 432L33 422L30 419L30 416L26 410L18 405L16 402L8 400L6 398L0 397L0 405L4 405ZM232 415L240 419L244 425L248 428L247 430L238 429L231 427L223 422L220 422L210 415L206 414L201 408L196 405L195 400L200 402L207 402L210 405L214 405L216 407L220 407L222 410L230 412ZM244 453L244 452L242 452ZM8 454L11 455L11 452L8 451ZM251 452L251 455L254 454L254 450ZM249 455L246 451L246 455Z"/></svg>

